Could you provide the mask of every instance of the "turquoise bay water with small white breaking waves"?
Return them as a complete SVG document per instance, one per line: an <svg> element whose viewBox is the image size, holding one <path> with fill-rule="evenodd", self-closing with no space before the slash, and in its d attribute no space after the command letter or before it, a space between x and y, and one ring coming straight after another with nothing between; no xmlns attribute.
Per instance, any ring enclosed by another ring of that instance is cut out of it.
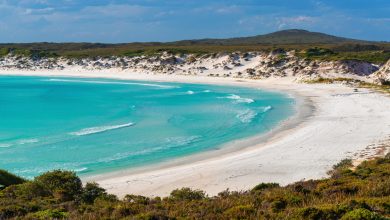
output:
<svg viewBox="0 0 390 220"><path fill-rule="evenodd" d="M169 161L269 131L294 100L257 89L0 77L0 168L32 178Z"/></svg>

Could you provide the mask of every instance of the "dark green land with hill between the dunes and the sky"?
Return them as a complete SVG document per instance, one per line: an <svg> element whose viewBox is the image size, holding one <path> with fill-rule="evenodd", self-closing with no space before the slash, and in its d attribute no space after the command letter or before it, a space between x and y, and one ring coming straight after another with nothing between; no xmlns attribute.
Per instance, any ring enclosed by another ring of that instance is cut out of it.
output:
<svg viewBox="0 0 390 220"><path fill-rule="evenodd" d="M235 51L295 50L309 60L359 60L383 64L390 58L390 43L335 37L305 30L285 30L266 35L229 39L183 40L145 43L24 43L0 44L6 55L39 57L110 57L171 54L205 55Z"/></svg>

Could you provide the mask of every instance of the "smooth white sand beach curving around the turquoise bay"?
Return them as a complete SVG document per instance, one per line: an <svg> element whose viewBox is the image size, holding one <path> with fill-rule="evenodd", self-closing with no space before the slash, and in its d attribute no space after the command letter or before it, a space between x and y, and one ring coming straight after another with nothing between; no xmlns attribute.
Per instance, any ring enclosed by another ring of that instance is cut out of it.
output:
<svg viewBox="0 0 390 220"><path fill-rule="evenodd" d="M4 72L2 74L240 85L286 91L304 97L314 105L312 116L298 117L298 125L291 128L294 123L290 123L290 127L285 126L283 131L266 142L230 152L221 150L206 159L199 156L186 158L177 165L86 179L96 180L108 192L119 196L165 196L181 187L202 189L209 195L215 195L227 188L247 190L260 182L289 184L303 179L322 178L326 177L332 165L344 158L364 159L375 155L380 150L377 148L379 144L388 140L390 135L390 98L365 89L354 92L353 88L344 85L298 84L291 79L251 81L107 71Z"/></svg>

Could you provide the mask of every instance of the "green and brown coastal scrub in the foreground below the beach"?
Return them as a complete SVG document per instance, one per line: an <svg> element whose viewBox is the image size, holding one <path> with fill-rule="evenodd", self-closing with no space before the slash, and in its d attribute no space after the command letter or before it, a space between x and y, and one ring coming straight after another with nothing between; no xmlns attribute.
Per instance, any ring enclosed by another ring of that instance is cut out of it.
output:
<svg viewBox="0 0 390 220"><path fill-rule="evenodd" d="M260 183L252 190L207 196L182 188L148 198L108 194L55 170L34 180L0 173L0 219L388 219L390 154L353 167L343 160L321 180L288 186ZM10 185L10 183L12 183Z"/></svg>

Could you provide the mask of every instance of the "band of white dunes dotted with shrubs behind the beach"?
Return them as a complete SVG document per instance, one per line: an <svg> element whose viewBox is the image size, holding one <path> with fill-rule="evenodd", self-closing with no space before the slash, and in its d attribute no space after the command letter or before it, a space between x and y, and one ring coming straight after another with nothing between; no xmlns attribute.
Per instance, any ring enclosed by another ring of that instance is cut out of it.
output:
<svg viewBox="0 0 390 220"><path fill-rule="evenodd" d="M215 53L203 56L193 54L155 56L95 57L95 58L28 58L6 56L0 58L1 69L24 70L115 70L142 73L204 75L262 79L269 77L296 77L297 79L358 78L389 79L389 66L380 68L364 61L319 61L302 59L294 51ZM373 74L374 72L376 72Z"/></svg>

